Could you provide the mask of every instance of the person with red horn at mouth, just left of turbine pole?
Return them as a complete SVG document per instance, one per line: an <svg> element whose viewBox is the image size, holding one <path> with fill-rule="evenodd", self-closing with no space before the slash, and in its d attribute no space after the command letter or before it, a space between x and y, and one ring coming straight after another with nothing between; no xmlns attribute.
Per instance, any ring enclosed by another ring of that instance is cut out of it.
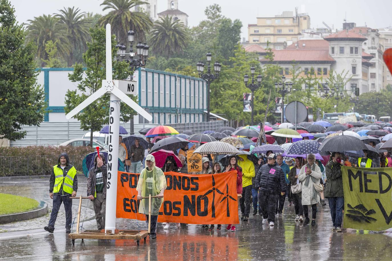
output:
<svg viewBox="0 0 392 261"><path fill-rule="evenodd" d="M107 166L105 157L94 158L87 178L87 196L93 201L98 230L105 229Z"/></svg>

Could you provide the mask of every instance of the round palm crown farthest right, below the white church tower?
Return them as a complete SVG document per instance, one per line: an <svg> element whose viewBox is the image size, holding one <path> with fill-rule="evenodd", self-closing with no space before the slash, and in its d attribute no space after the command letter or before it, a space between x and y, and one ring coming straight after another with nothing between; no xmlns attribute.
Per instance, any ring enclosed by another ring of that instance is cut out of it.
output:
<svg viewBox="0 0 392 261"><path fill-rule="evenodd" d="M161 17L151 29L149 43L153 52L159 52L166 58L182 52L190 41L186 28L184 23L173 20L172 16Z"/></svg>

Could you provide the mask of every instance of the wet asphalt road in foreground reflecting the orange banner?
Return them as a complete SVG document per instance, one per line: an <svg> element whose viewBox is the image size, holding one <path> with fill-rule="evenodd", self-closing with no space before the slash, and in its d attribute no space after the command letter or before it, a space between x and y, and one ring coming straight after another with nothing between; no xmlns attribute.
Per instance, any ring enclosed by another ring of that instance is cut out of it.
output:
<svg viewBox="0 0 392 261"><path fill-rule="evenodd" d="M0 182L1 183L1 182ZM208 231L200 225L163 230L158 238L140 246L135 241L76 239L73 246L62 229L49 234L0 233L0 260L392 260L392 230L384 233L330 231L328 205L318 208L317 226L303 227L294 221L294 206L285 202L283 217L274 228L261 216L241 221L237 232ZM84 223L96 229L95 221ZM117 219L118 229L147 229L142 221Z"/></svg>

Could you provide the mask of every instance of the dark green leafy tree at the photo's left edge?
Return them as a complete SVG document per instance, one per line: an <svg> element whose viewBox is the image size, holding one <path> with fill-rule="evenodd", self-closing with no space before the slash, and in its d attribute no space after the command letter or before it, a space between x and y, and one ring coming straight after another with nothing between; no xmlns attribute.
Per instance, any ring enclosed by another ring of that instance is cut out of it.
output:
<svg viewBox="0 0 392 261"><path fill-rule="evenodd" d="M8 0L0 0L0 25L0 135L18 140L26 135L22 125L44 120L44 90L36 84L36 47L24 44L24 29Z"/></svg>

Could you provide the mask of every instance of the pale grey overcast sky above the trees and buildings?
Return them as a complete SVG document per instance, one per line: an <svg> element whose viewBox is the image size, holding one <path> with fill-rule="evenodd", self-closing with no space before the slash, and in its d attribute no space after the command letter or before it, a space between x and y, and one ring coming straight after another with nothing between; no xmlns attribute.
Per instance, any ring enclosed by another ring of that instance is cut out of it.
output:
<svg viewBox="0 0 392 261"><path fill-rule="evenodd" d="M19 22L24 23L34 16L57 13L65 7L79 7L82 11L101 13L103 0L11 0L15 6ZM204 9L211 4L219 4L226 17L240 19L243 23L241 37L247 37L247 25L256 23L256 17L274 16L282 11L307 12L311 27L325 27L326 22L334 29L342 28L343 19L357 26L381 28L392 25L392 0L179 0L179 9L189 15L189 26L197 25L205 19ZM158 13L167 9L167 0L158 0ZM305 10L303 10L305 9ZM107 13L108 11L106 11Z"/></svg>

